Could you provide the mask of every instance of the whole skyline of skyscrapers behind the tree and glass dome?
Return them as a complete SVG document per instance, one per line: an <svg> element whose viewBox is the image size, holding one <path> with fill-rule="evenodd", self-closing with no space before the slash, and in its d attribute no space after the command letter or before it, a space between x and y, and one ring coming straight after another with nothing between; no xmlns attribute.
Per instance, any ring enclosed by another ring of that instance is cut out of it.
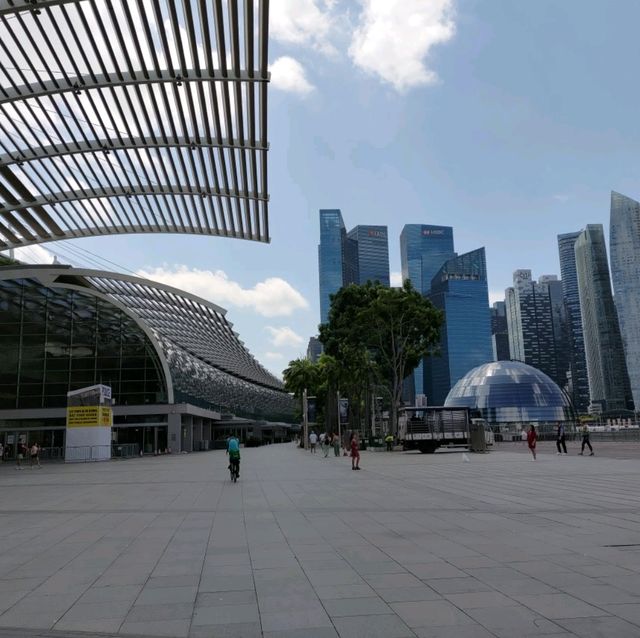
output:
<svg viewBox="0 0 640 638"><path fill-rule="evenodd" d="M445 324L441 356L425 359L407 378L405 400L426 395L429 405L441 404L472 367L512 359L550 376L579 413L639 404L640 203L612 192L610 214L611 272L602 225L588 224L557 236L560 277L536 281L531 270L517 269L505 300L491 307L483 248L458 255L451 226L406 224L402 279L444 310ZM390 284L388 232L367 225L347 232L338 209L323 209L320 218L326 317L328 295L341 285L374 278Z"/></svg>

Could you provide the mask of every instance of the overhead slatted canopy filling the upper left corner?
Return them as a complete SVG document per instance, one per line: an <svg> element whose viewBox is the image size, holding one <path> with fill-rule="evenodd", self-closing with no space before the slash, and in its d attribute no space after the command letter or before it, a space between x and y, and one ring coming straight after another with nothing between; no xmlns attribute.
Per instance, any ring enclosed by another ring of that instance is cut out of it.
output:
<svg viewBox="0 0 640 638"><path fill-rule="evenodd" d="M0 249L269 240L269 0L0 0Z"/></svg>

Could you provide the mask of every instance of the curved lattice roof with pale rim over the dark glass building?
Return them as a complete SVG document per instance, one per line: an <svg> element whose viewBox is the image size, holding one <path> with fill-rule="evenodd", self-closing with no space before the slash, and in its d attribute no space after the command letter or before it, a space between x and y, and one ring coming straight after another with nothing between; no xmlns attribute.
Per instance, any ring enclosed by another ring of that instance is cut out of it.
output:
<svg viewBox="0 0 640 638"><path fill-rule="evenodd" d="M165 367L179 350L223 373L284 394L282 382L240 341L226 311L195 295L139 277L69 266L9 266L0 268L0 280L4 279L34 279L48 287L100 296L145 330Z"/></svg>

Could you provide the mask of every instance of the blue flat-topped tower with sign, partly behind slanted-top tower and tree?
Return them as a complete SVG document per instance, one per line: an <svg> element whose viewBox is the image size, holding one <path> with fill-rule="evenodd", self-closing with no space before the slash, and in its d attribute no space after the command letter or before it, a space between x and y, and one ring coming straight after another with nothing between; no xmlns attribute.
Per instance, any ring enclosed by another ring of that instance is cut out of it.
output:
<svg viewBox="0 0 640 638"><path fill-rule="evenodd" d="M413 287L427 295L431 280L448 260L456 256L453 250L453 228L427 224L405 224L400 233L402 281L411 280ZM405 401L425 394L424 360L405 383ZM413 385L409 388L408 386Z"/></svg>

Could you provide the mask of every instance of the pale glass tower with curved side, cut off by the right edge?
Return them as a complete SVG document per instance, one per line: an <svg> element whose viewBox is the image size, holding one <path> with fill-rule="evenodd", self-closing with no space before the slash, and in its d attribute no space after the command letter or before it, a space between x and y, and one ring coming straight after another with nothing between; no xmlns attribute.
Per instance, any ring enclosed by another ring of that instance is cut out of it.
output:
<svg viewBox="0 0 640 638"><path fill-rule="evenodd" d="M640 203L611 193L611 278L633 402L640 406Z"/></svg>

